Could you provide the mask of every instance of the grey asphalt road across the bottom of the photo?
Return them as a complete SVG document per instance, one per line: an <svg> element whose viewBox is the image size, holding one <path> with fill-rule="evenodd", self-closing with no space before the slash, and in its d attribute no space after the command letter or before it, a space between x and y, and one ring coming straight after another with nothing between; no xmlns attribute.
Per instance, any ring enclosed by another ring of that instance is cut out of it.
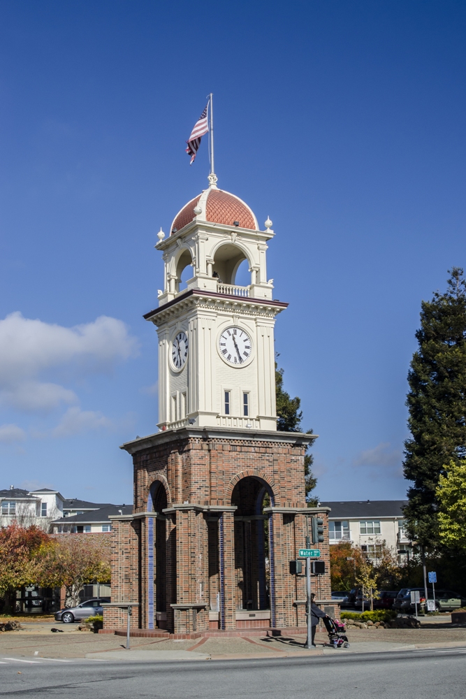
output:
<svg viewBox="0 0 466 699"><path fill-rule="evenodd" d="M466 647L263 661L0 658L0 696L68 699L424 699L464 696Z"/></svg>

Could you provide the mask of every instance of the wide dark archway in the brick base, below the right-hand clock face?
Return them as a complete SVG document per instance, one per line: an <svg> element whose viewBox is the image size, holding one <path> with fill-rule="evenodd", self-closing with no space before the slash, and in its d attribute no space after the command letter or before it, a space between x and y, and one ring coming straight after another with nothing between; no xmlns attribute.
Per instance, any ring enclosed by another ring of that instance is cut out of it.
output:
<svg viewBox="0 0 466 699"><path fill-rule="evenodd" d="M235 511L235 583L237 610L270 608L270 544L268 515L274 498L257 477L242 478L233 489Z"/></svg>

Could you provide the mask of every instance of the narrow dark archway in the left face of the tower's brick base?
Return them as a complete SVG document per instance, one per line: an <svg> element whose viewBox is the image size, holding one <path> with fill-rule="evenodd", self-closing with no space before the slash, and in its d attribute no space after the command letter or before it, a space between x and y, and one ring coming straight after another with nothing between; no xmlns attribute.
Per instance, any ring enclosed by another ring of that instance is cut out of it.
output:
<svg viewBox="0 0 466 699"><path fill-rule="evenodd" d="M166 615L167 549L166 519L163 510L167 507L167 493L163 483L158 480L154 481L150 487L150 500L152 500L152 511L157 513L154 528L154 611L158 616L157 621L165 621L161 615Z"/></svg>

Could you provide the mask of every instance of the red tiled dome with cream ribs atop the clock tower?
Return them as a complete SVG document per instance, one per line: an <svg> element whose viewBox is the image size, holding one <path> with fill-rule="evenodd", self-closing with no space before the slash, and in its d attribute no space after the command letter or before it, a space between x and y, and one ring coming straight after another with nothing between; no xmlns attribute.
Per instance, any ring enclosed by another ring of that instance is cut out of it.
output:
<svg viewBox="0 0 466 699"><path fill-rule="evenodd" d="M198 212L194 212L195 208ZM195 217L209 223L219 223L225 226L239 226L252 231L258 231L257 219L247 204L238 196L225 192L224 189L209 187L205 192L191 199L177 213L170 229L170 235L181 231Z"/></svg>

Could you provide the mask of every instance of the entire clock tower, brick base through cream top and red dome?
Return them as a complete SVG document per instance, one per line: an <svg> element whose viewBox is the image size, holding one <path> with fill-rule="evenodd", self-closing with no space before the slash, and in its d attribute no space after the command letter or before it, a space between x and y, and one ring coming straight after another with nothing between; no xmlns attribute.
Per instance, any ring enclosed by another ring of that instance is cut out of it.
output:
<svg viewBox="0 0 466 699"><path fill-rule="evenodd" d="M124 626L132 603L135 634L300 633L305 585L289 562L316 514L326 572L314 591L331 600L328 510L305 499L316 435L277 431L274 326L287 304L267 275L272 222L261 230L242 199L213 173L209 182L155 246L163 289L145 319L158 336L159 420L121 447L133 457L134 508L112 517L104 628Z"/></svg>

